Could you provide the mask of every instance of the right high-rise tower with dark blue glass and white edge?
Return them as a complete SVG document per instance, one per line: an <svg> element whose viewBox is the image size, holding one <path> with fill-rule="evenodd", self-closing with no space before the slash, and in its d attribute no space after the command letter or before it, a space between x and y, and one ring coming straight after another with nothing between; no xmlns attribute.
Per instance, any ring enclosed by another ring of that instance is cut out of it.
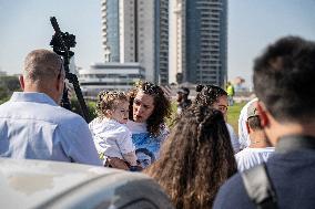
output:
<svg viewBox="0 0 315 209"><path fill-rule="evenodd" d="M227 0L170 2L170 82L227 79Z"/></svg>

